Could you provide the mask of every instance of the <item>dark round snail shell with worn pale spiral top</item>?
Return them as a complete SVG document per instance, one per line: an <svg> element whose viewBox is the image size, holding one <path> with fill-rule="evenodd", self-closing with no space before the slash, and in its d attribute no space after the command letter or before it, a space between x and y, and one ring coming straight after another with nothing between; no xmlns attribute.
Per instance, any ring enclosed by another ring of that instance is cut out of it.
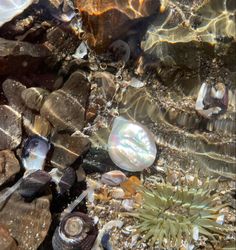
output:
<svg viewBox="0 0 236 250"><path fill-rule="evenodd" d="M75 212L66 215L52 238L54 250L90 250L98 229L86 214Z"/></svg>

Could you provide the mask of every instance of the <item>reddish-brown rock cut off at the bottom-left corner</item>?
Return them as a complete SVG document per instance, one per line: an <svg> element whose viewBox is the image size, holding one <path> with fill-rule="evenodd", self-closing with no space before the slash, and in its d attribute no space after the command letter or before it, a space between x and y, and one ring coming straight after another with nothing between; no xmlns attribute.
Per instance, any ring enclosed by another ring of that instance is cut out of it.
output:
<svg viewBox="0 0 236 250"><path fill-rule="evenodd" d="M17 250L15 240L11 237L6 226L0 224L0 249L1 250Z"/></svg>

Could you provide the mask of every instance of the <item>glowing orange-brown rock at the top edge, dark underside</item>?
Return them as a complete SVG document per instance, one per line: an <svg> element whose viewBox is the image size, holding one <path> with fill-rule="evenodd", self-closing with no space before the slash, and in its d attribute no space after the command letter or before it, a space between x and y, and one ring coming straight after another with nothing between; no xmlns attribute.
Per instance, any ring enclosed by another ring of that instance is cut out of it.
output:
<svg viewBox="0 0 236 250"><path fill-rule="evenodd" d="M81 12L89 45L101 50L122 35L128 34L135 19L158 13L160 2L157 0L77 0L75 6Z"/></svg>

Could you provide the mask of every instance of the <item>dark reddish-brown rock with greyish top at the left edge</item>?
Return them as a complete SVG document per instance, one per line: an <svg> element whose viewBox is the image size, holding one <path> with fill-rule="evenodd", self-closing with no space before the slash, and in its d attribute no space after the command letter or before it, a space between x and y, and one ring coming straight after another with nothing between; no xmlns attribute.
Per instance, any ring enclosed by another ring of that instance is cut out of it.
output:
<svg viewBox="0 0 236 250"><path fill-rule="evenodd" d="M0 38L0 75L35 71L48 55L42 45Z"/></svg>

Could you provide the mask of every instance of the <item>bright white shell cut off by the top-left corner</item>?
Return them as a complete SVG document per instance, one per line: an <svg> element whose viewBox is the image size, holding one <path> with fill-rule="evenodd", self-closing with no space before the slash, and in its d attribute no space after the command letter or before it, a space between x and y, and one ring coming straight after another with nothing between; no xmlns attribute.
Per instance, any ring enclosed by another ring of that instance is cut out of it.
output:
<svg viewBox="0 0 236 250"><path fill-rule="evenodd" d="M34 0L1 0L0 27L22 13Z"/></svg>

